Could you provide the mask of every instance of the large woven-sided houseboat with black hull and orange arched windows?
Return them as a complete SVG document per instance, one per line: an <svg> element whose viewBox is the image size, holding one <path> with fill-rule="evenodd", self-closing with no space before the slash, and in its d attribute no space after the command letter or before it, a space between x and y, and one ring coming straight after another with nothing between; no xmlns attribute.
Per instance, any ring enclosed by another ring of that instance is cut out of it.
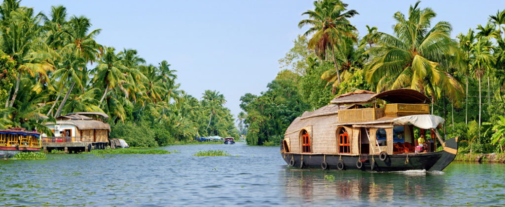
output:
<svg viewBox="0 0 505 207"><path fill-rule="evenodd" d="M442 171L458 152L458 138L440 137L444 119L429 113L430 99L418 91L361 90L330 103L287 128L281 155L291 167Z"/></svg>

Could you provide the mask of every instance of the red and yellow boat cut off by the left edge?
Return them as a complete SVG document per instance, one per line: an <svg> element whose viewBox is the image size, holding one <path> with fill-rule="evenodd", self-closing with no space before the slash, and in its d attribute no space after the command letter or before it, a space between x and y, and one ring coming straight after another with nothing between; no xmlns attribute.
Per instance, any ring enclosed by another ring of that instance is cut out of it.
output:
<svg viewBox="0 0 505 207"><path fill-rule="evenodd" d="M0 158L33 151L40 151L40 133L25 131L25 128L0 130Z"/></svg>

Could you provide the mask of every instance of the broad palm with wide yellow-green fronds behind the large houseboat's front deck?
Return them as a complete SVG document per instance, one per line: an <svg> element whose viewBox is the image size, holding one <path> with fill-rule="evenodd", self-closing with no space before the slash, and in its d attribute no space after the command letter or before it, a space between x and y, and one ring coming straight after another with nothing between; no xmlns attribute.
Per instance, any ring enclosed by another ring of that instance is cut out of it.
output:
<svg viewBox="0 0 505 207"><path fill-rule="evenodd" d="M366 78L377 84L377 92L409 87L435 98L444 90L452 100L463 94L463 88L443 68L459 67L457 43L450 38L451 26L440 21L430 28L436 16L430 8L421 10L420 2L409 9L409 17L396 12L394 34L377 32L377 54L365 65ZM433 104L432 104L433 113Z"/></svg>

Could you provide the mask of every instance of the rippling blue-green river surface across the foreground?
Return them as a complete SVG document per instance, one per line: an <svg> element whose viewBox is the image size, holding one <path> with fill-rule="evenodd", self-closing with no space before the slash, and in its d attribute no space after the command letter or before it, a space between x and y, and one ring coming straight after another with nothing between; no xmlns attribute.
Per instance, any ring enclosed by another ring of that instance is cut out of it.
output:
<svg viewBox="0 0 505 207"><path fill-rule="evenodd" d="M340 172L288 168L279 147L243 142L162 149L180 153L1 160L0 205L505 205L504 164L453 162L436 173ZM233 156L192 156L218 149Z"/></svg>

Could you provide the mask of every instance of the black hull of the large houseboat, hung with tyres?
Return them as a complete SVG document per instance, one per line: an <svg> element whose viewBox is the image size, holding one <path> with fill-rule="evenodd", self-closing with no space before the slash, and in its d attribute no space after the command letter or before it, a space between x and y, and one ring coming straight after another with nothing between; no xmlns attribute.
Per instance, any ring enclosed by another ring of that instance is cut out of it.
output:
<svg viewBox="0 0 505 207"><path fill-rule="evenodd" d="M380 160L379 155L294 154L281 152L288 165L296 168L319 168L360 171L442 171L456 157L458 138L448 139L444 150L418 154L392 154ZM358 162L361 161L359 164ZM361 167L361 168L359 168Z"/></svg>

